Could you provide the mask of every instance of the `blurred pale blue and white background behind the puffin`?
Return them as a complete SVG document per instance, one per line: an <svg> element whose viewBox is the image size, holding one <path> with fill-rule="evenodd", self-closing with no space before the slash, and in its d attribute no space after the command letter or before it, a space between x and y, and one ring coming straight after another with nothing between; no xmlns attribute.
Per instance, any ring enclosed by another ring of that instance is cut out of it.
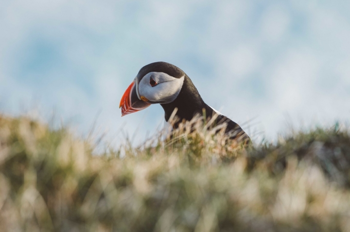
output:
<svg viewBox="0 0 350 232"><path fill-rule="evenodd" d="M349 0L0 0L0 112L35 109L135 144L153 105L121 117L144 65L172 63L255 140L350 119ZM53 113L54 112L54 113Z"/></svg>

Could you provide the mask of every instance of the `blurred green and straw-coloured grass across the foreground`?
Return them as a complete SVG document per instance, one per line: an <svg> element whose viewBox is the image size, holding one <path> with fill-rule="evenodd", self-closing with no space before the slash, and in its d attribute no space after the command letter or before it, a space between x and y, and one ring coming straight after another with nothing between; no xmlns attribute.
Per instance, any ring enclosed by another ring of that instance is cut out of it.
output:
<svg viewBox="0 0 350 232"><path fill-rule="evenodd" d="M67 128L0 116L0 231L350 231L348 130L244 148L188 128L92 155Z"/></svg>

